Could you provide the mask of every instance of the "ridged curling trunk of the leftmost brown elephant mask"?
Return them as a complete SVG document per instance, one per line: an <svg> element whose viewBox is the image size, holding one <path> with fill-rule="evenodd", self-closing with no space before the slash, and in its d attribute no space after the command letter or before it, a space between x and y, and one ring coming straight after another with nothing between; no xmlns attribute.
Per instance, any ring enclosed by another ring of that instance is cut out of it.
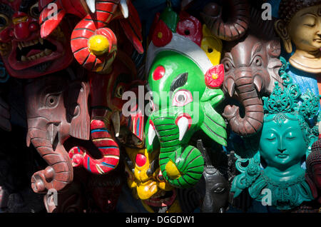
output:
<svg viewBox="0 0 321 227"><path fill-rule="evenodd" d="M27 143L31 141L41 158L49 164L31 177L31 187L34 192L46 193L51 189L56 191L66 189L66 186L73 181L73 167L63 146L58 143L54 149L52 143L54 139L48 138L47 132L38 128L29 129L28 140Z"/></svg>

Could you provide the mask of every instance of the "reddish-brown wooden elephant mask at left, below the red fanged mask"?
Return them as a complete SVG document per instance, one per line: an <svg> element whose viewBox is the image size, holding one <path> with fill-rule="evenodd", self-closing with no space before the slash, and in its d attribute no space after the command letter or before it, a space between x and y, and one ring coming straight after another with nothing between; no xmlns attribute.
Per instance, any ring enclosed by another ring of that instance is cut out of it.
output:
<svg viewBox="0 0 321 227"><path fill-rule="evenodd" d="M70 136L89 139L88 94L87 83L68 81L68 75L51 74L26 85L27 145L32 143L49 164L31 178L36 193L61 191L73 180L63 142Z"/></svg>

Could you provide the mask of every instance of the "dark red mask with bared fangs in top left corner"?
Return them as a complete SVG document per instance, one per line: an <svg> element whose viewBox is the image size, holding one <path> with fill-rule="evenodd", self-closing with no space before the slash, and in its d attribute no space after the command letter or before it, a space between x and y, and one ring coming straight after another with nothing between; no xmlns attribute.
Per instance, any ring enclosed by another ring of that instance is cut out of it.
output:
<svg viewBox="0 0 321 227"><path fill-rule="evenodd" d="M38 1L0 1L1 57L6 70L17 78L36 78L65 69L73 55L65 22L42 39Z"/></svg>

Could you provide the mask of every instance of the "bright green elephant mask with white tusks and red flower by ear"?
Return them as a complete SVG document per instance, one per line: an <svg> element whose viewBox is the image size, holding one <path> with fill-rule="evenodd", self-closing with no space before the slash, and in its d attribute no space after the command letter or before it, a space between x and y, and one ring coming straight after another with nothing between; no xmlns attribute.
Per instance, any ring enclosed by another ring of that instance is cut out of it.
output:
<svg viewBox="0 0 321 227"><path fill-rule="evenodd" d="M193 133L203 130L226 146L225 121L215 111L224 98L219 89L223 67L213 66L204 75L190 57L164 50L156 54L149 69L153 112L146 125L146 147L148 152L160 148L159 165L166 181L188 188L204 170L202 154L188 145Z"/></svg>

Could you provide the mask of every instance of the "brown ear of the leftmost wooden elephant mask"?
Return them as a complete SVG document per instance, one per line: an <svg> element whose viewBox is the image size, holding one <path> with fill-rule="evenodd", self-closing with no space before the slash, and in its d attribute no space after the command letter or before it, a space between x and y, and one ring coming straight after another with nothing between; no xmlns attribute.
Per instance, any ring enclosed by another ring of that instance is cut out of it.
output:
<svg viewBox="0 0 321 227"><path fill-rule="evenodd" d="M66 101L67 121L71 123L69 135L89 140L90 117L88 113L88 83L75 81L69 85Z"/></svg>

